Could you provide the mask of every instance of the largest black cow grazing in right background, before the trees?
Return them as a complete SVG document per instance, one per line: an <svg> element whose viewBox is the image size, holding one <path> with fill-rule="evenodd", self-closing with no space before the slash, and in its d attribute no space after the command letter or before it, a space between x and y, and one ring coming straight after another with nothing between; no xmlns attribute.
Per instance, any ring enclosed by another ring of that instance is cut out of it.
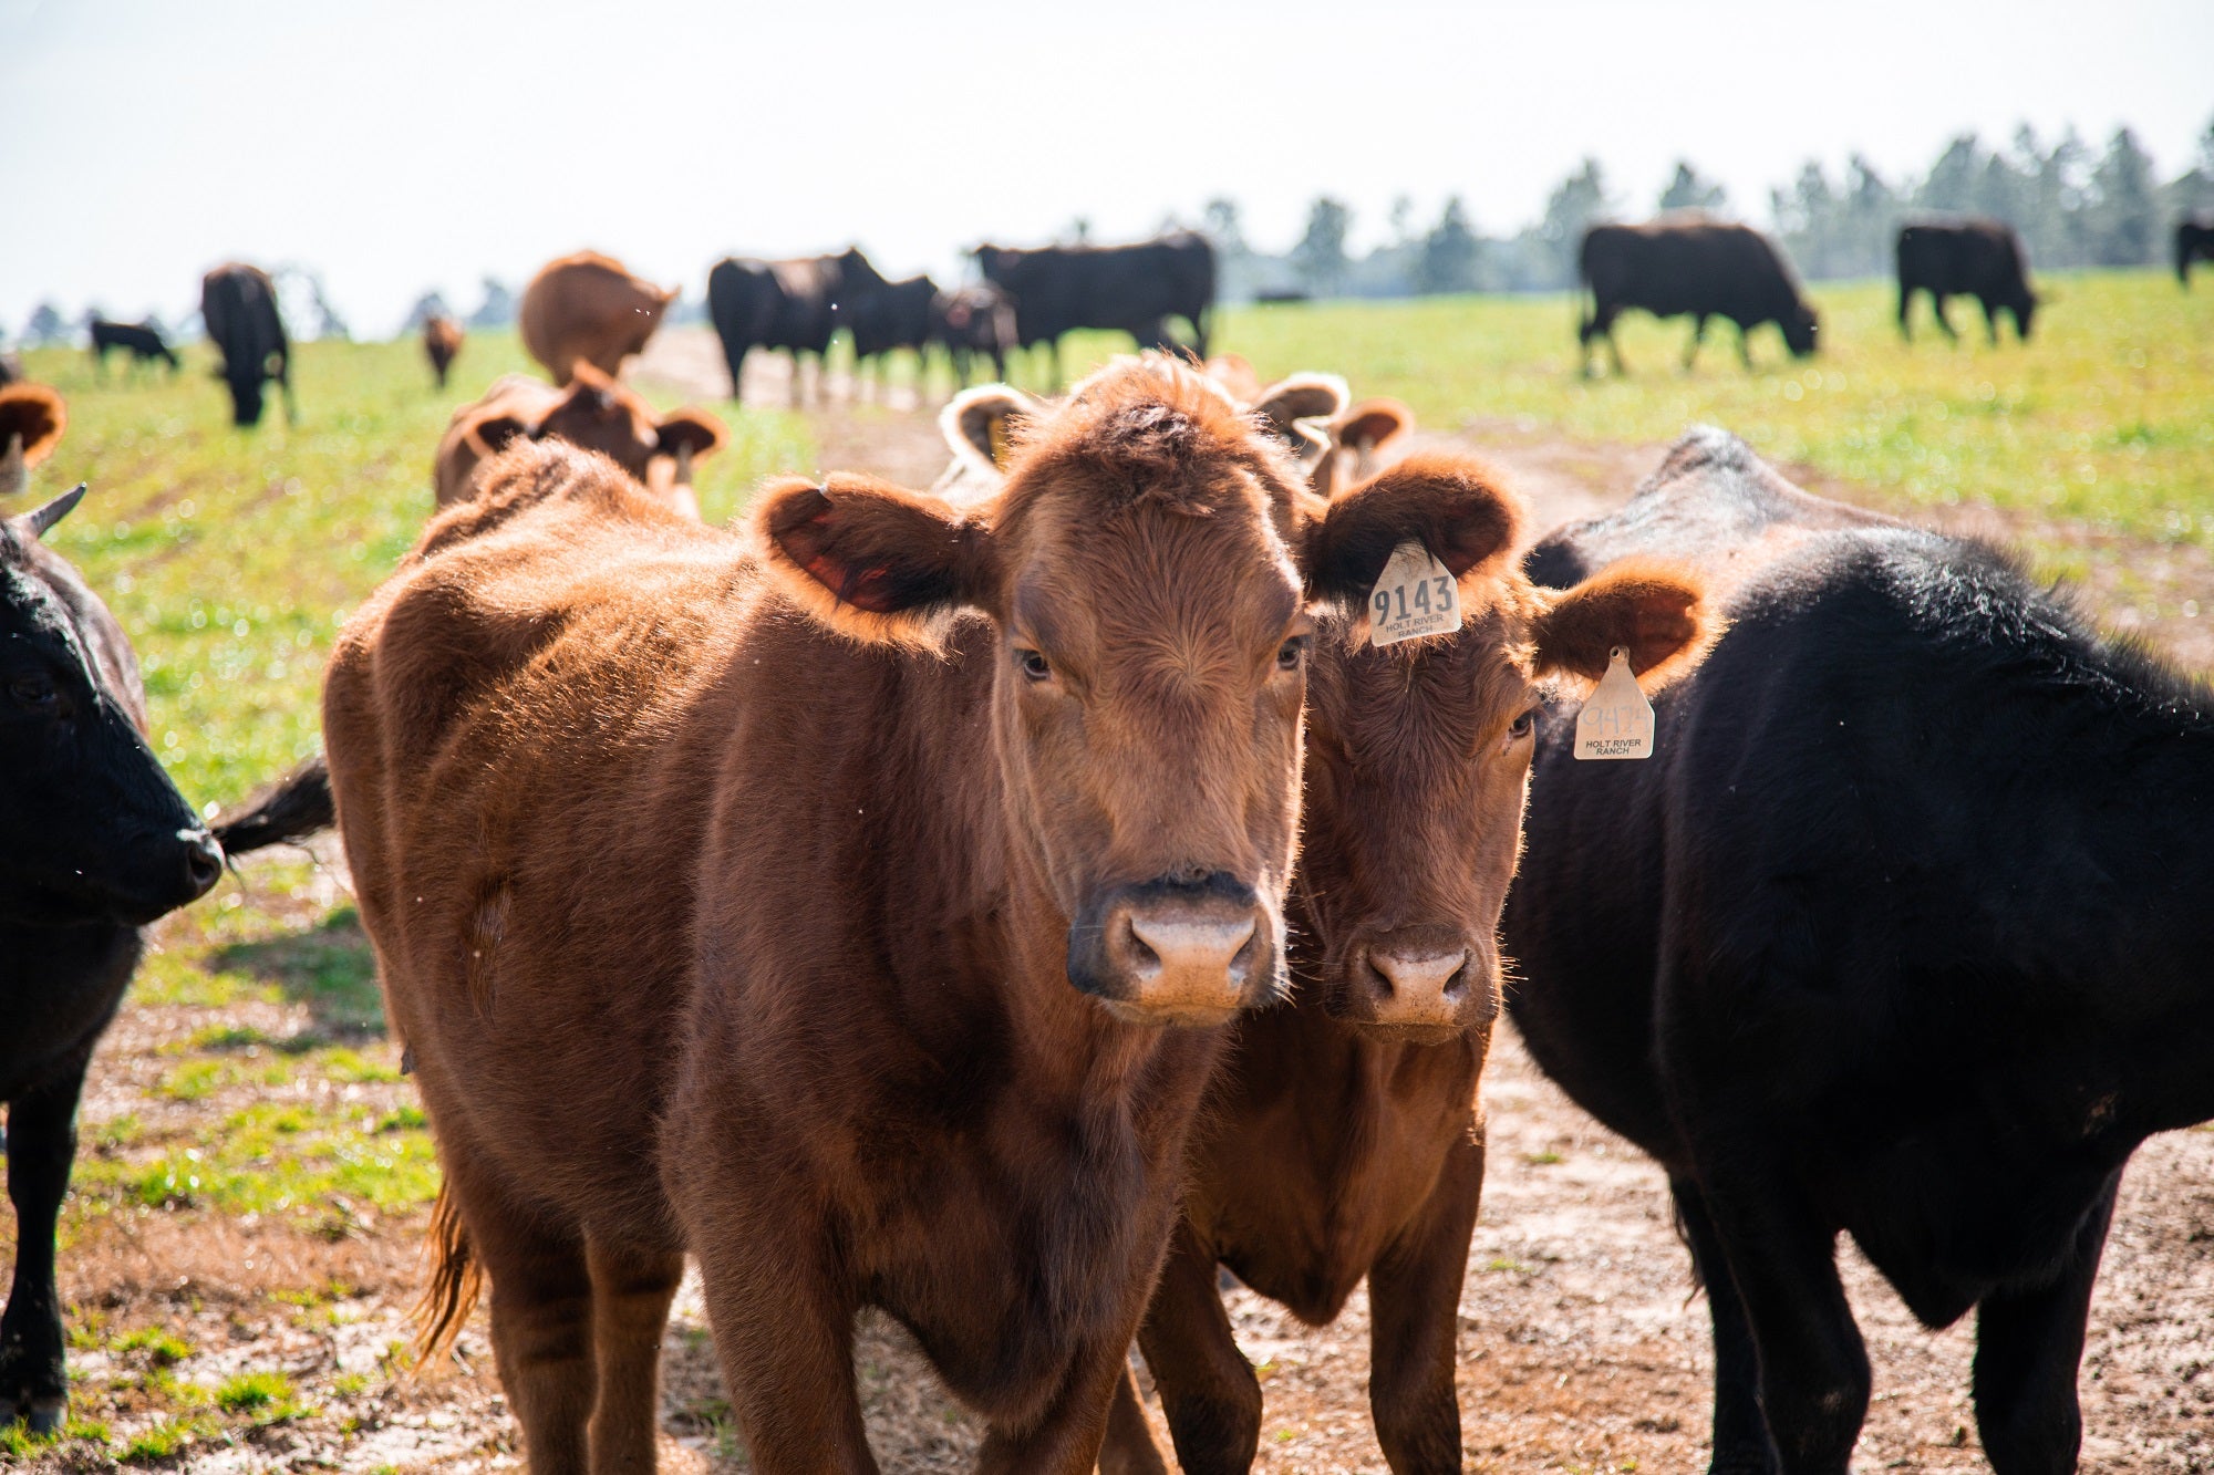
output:
<svg viewBox="0 0 2214 1475"><path fill-rule="evenodd" d="M1592 310L1576 326L1585 374L1592 372L1596 337L1607 341L1614 372L1623 372L1614 319L1630 308L1696 319L1683 350L1685 370L1707 341L1709 317L1727 317L1738 326L1745 368L1753 368L1745 334L1760 323L1776 323L1796 359L1813 352L1820 330L1820 319L1769 237L1696 213L1663 215L1643 226L1592 226L1576 252L1576 275L1592 295Z"/></svg>

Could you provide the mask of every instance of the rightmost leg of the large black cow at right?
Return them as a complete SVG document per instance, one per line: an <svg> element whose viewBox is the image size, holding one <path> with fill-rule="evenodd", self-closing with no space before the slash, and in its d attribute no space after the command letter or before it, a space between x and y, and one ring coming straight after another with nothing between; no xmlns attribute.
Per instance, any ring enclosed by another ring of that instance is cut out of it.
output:
<svg viewBox="0 0 2214 1475"><path fill-rule="evenodd" d="M2077 1231L2059 1280L2035 1291L1986 1296L1975 1313L1975 1428L1997 1475L2066 1475L2077 1468L2083 1415L2077 1369L2099 1278L2117 1176Z"/></svg>

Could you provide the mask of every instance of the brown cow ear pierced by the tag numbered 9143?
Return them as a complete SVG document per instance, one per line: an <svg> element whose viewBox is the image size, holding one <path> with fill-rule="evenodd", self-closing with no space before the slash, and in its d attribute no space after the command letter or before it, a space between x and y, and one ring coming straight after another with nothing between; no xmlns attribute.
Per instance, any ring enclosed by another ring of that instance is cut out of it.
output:
<svg viewBox="0 0 2214 1475"><path fill-rule="evenodd" d="M1302 543L1306 589L1366 600L1393 549L1421 543L1455 578L1503 569L1521 538L1521 503L1472 456L1408 456L1333 498Z"/></svg>

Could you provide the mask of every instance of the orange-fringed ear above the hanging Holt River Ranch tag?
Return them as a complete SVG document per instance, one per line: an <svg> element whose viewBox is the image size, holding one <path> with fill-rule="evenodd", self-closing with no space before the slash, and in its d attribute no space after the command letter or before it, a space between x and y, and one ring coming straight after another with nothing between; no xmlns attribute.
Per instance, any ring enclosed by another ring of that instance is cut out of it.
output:
<svg viewBox="0 0 2214 1475"><path fill-rule="evenodd" d="M1627 560L1574 589L1539 594L1532 620L1532 675L1599 680L1616 649L1645 691L1658 691L1707 658L1720 620L1707 607L1707 585L1691 569Z"/></svg>

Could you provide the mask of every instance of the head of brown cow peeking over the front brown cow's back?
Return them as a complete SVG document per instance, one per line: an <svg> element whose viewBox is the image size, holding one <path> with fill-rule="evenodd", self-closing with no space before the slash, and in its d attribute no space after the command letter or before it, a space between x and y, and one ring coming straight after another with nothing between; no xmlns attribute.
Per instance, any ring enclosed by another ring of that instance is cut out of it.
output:
<svg viewBox="0 0 2214 1475"><path fill-rule="evenodd" d="M658 414L633 390L584 359L569 372L569 388L551 405L492 396L465 427L465 443L476 458L487 461L516 439L567 441L600 452L640 485L697 516L697 503L691 498L691 463L711 456L728 441L722 421L691 408ZM677 487L684 487L682 496Z"/></svg>

